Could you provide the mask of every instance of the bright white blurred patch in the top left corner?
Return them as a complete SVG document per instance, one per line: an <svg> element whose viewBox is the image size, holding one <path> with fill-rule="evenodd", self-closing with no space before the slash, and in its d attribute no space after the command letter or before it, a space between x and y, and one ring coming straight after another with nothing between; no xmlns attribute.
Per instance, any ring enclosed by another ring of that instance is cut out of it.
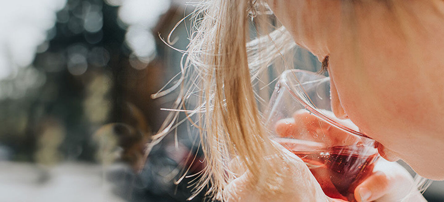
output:
<svg viewBox="0 0 444 202"><path fill-rule="evenodd" d="M47 39L47 31L56 22L56 11L66 0L17 0L0 7L0 79L27 67L37 47ZM26 6L23 6L26 5Z"/></svg>

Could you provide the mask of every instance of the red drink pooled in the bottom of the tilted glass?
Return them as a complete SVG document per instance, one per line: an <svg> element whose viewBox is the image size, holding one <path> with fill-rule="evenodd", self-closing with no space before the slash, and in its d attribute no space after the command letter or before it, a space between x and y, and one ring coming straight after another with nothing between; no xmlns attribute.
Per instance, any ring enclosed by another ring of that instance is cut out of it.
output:
<svg viewBox="0 0 444 202"><path fill-rule="evenodd" d="M362 145L351 145L312 152L290 151L307 164L327 196L355 201L355 188L373 172L377 160L377 154L359 155L365 149Z"/></svg>

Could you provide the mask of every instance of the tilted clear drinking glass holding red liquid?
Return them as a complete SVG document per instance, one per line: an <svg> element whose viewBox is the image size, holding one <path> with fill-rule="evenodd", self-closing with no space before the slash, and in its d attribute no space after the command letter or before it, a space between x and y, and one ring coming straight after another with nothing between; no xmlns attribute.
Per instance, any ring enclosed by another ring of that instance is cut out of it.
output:
<svg viewBox="0 0 444 202"><path fill-rule="evenodd" d="M272 139L307 164L327 196L355 201L354 189L373 172L379 155L373 139L333 114L329 77L283 72L266 118Z"/></svg>

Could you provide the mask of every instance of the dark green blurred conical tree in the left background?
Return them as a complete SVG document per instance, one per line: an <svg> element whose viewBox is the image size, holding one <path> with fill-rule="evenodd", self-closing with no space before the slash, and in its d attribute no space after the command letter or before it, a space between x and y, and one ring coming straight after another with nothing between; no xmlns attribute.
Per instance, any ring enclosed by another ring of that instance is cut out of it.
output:
<svg viewBox="0 0 444 202"><path fill-rule="evenodd" d="M129 50L123 46L125 30L118 25L117 11L102 0L67 0L47 42L38 48L36 70L24 69L19 72L23 76L1 81L2 89L29 80L41 83L13 91L21 96L0 99L0 142L12 149L12 159L34 160L37 140L44 137L40 126L56 119L66 131L58 147L63 159L93 160L92 131L119 121L123 102Z"/></svg>

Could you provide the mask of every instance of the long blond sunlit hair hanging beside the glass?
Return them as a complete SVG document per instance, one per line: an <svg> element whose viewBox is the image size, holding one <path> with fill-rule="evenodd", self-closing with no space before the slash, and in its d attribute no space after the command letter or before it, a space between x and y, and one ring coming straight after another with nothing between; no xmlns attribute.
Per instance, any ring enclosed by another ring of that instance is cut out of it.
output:
<svg viewBox="0 0 444 202"><path fill-rule="evenodd" d="M347 25L353 26L353 9L349 7L354 1L342 2L348 14L344 16L349 19ZM178 124L188 122L198 128L206 164L190 185L195 187L190 198L208 190L206 195L211 199L226 200L224 188L242 174L230 166L234 159L256 180L251 188L264 196L289 189L280 183L288 175L285 156L267 137L259 110L267 98L260 96L255 84L270 83L262 80L267 75L264 70L270 66L280 70L293 68L295 42L261 0L201 0L193 6L195 10L188 16L192 21L190 44L186 51L179 50L184 56L176 83L152 95L160 97L178 88L179 96L147 150ZM352 32L345 34L353 41ZM324 69L327 62L325 57ZM186 118L179 120L183 112ZM178 182L184 177L186 171Z"/></svg>

